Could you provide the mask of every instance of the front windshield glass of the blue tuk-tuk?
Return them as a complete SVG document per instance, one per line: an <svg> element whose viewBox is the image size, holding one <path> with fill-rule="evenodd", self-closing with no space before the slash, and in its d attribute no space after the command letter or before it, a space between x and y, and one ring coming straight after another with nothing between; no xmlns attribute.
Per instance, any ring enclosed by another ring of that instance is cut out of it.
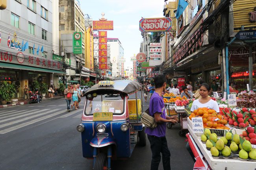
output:
<svg viewBox="0 0 256 170"><path fill-rule="evenodd" d="M92 115L96 112L112 112L122 114L124 112L124 100L120 95L98 95L92 100L86 101L85 115Z"/></svg>

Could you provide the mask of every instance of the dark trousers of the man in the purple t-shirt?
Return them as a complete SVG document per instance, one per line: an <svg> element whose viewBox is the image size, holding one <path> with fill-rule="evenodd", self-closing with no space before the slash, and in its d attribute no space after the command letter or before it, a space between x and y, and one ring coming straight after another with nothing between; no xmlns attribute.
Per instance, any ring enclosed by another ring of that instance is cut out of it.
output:
<svg viewBox="0 0 256 170"><path fill-rule="evenodd" d="M150 142L150 148L152 152L152 161L151 161L150 170L158 170L158 166L161 161L160 153L162 153L163 169L171 170L171 163L170 163L171 153L168 149L166 138L148 135L148 140Z"/></svg>

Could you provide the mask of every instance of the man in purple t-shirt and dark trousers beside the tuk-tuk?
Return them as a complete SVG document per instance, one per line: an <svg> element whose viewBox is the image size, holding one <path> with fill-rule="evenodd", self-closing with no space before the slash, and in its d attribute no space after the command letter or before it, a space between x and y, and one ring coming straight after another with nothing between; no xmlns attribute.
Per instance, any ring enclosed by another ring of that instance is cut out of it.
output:
<svg viewBox="0 0 256 170"><path fill-rule="evenodd" d="M150 142L150 148L152 152L150 170L158 170L158 166L161 160L160 153L162 153L163 169L171 170L171 154L167 146L165 131L166 122L177 123L177 116L168 117L165 115L165 105L161 95L166 88L166 77L164 75L158 75L155 77L154 82L156 90L154 91L149 102L149 115L154 117L158 125L154 129L146 128L145 130L145 133L148 135L148 140Z"/></svg>

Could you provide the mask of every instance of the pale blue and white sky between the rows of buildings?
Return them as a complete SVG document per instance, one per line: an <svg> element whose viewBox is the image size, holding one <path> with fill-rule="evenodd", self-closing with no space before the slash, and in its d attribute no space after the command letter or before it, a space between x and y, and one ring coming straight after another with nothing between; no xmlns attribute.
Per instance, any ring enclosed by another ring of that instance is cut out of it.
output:
<svg viewBox="0 0 256 170"><path fill-rule="evenodd" d="M84 14L93 20L99 20L101 13L113 20L114 30L108 31L108 38L119 38L124 48L126 63L124 68L132 66L130 57L139 53L142 42L139 20L143 18L163 17L164 0L79 0Z"/></svg>

